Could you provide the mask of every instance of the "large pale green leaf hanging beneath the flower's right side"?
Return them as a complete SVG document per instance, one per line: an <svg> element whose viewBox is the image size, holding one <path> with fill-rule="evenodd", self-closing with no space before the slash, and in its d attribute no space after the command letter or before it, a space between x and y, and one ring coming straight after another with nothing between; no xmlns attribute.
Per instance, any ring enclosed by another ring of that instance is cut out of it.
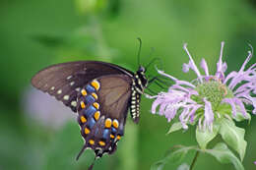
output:
<svg viewBox="0 0 256 170"><path fill-rule="evenodd" d="M239 153L240 159L243 160L247 142L244 140L244 129L238 128L235 124L228 120L223 119L220 121L220 134L224 142Z"/></svg>

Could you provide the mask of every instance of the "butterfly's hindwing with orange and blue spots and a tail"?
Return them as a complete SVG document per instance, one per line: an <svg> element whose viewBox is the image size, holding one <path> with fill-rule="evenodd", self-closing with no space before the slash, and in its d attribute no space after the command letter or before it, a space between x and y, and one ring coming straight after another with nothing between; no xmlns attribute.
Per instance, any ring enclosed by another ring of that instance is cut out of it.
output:
<svg viewBox="0 0 256 170"><path fill-rule="evenodd" d="M79 156L85 148L94 149L98 157L114 152L124 134L131 85L132 78L127 75L109 75L94 80L81 90L78 123L85 145Z"/></svg>

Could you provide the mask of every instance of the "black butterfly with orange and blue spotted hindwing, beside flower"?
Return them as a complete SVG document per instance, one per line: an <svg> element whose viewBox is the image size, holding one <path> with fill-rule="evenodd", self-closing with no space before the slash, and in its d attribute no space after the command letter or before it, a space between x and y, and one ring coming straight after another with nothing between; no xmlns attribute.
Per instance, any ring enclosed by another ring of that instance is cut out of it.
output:
<svg viewBox="0 0 256 170"><path fill-rule="evenodd" d="M74 112L86 148L96 157L111 154L124 135L128 109L135 123L140 118L140 100L148 85L145 68L136 73L99 61L78 61L49 66L32 78L32 85L61 100Z"/></svg>

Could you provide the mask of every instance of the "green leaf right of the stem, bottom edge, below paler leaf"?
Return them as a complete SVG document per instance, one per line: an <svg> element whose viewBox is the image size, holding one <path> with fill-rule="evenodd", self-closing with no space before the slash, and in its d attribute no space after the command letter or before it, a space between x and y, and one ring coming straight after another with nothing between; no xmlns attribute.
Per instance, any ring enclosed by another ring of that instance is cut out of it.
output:
<svg viewBox="0 0 256 170"><path fill-rule="evenodd" d="M244 170L241 161L228 149L224 142L219 142L213 149L207 149L207 153L215 156L221 163L232 163L236 170Z"/></svg>

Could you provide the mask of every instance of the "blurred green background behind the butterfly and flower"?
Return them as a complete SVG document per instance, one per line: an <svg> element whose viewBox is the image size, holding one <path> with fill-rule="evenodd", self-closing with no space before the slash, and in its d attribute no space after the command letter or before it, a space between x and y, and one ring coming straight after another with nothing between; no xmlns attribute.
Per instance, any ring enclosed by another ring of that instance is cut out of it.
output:
<svg viewBox="0 0 256 170"><path fill-rule="evenodd" d="M136 71L138 41L143 39L142 64L160 57L163 69L192 80L181 72L188 57L205 57L216 69L221 41L225 41L227 72L238 70L250 43L256 48L256 3L253 0L1 0L0 1L0 170L85 170L94 159L83 145L75 114L52 97L34 90L32 76L54 63L102 60ZM152 47L155 48L151 55ZM256 57L250 64L255 63ZM150 74L156 73L154 69ZM49 98L49 99L48 99ZM52 99L52 100L51 100ZM130 117L115 154L103 156L95 169L150 169L173 144L196 144L194 129L165 136L170 124L150 113L152 101L143 98L141 121ZM44 115L45 114L45 115ZM73 117L71 117L73 115ZM246 170L256 169L256 118L246 129ZM254 131L253 131L254 130ZM185 162L191 163L194 153ZM164 169L175 169L169 162ZM234 169L201 154L197 170Z"/></svg>

